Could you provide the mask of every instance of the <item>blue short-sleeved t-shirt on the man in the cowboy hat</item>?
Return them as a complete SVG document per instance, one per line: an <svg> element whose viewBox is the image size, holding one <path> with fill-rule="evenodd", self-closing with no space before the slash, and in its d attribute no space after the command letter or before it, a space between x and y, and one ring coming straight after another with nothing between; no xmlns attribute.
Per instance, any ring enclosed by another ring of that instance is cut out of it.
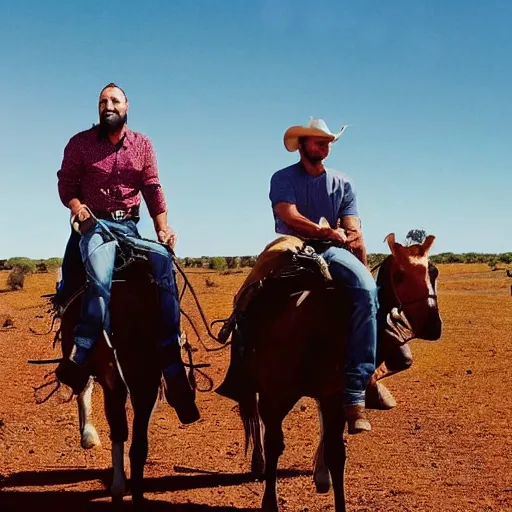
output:
<svg viewBox="0 0 512 512"><path fill-rule="evenodd" d="M278 203L292 203L311 222L319 223L325 217L332 228L346 215L358 217L354 185L346 175L326 169L319 176L309 175L301 163L277 171L270 180L272 209ZM276 233L295 235L275 213Z"/></svg>

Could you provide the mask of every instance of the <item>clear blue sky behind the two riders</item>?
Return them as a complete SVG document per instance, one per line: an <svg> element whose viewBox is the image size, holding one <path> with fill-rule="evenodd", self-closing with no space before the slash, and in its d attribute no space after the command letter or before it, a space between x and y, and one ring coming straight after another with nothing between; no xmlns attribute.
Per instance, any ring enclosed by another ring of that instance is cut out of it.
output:
<svg viewBox="0 0 512 512"><path fill-rule="evenodd" d="M327 164L370 252L412 228L511 251L511 25L506 0L4 0L0 258L62 255L56 172L110 81L156 148L178 256L260 252L270 177L297 159L283 133L310 116L351 125Z"/></svg>

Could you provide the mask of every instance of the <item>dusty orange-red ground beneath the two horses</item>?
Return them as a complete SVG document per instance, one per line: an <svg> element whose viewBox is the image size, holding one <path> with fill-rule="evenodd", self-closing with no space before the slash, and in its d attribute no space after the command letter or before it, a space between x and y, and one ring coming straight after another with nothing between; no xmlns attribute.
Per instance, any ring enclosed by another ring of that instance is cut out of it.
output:
<svg viewBox="0 0 512 512"><path fill-rule="evenodd" d="M371 411L373 431L348 439L351 512L512 511L512 280L485 265L440 271L442 340L412 342L413 368L388 381L398 407ZM208 318L226 316L243 275L190 275ZM94 405L103 445L91 451L80 448L74 402L64 403L64 394L42 405L34 400L32 386L54 366L27 360L60 355L51 347L52 336L29 330L47 327L40 295L53 291L54 275L32 276L20 292L4 290L6 277L0 273L0 326L10 316L14 328L0 330L0 510L110 510L110 442L101 390L95 389ZM206 287L206 278L217 286ZM212 364L209 374L218 384L227 356L200 349L196 360ZM154 411L146 468L149 510L258 509L262 484L247 476L232 403L202 393L199 405L202 420L189 427L181 427L165 403ZM318 439L311 401L297 404L285 434L282 510L333 510L332 494L315 494L311 480Z"/></svg>

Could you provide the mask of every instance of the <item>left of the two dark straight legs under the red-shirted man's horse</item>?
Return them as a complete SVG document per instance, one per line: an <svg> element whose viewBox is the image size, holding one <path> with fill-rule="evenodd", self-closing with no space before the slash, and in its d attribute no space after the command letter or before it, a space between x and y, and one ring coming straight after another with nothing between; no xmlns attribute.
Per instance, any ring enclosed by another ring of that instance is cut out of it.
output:
<svg viewBox="0 0 512 512"><path fill-rule="evenodd" d="M126 475L124 472L124 443L128 439L128 421L126 419L127 390L120 377L112 385L103 388L105 415L110 427L112 441L112 501L119 503L126 494Z"/></svg>

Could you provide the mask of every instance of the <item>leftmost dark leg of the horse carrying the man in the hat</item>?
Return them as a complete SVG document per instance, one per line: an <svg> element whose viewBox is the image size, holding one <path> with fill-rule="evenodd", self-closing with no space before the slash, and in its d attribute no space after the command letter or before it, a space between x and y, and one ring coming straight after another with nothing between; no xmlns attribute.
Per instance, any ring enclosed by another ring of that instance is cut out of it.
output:
<svg viewBox="0 0 512 512"><path fill-rule="evenodd" d="M262 512L278 512L277 504L277 464L284 451L283 420L293 407L277 406L271 403L265 395L260 397L259 411L265 426L265 491L261 504Z"/></svg>

